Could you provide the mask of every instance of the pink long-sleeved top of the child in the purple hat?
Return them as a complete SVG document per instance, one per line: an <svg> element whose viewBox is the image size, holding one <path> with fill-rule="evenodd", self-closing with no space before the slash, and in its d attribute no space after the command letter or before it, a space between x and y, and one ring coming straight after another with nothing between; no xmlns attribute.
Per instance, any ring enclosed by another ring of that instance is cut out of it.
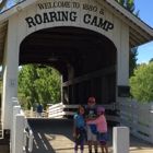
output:
<svg viewBox="0 0 153 153"><path fill-rule="evenodd" d="M101 115L98 118L94 120L86 121L86 125L96 125L96 130L98 132L107 132L107 122L104 115Z"/></svg>

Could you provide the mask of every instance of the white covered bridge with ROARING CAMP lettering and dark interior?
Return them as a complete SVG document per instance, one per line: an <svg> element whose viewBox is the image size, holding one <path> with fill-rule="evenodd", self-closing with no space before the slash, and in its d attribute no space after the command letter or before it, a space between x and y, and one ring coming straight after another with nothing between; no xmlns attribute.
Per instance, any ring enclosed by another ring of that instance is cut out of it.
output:
<svg viewBox="0 0 153 153"><path fill-rule="evenodd" d="M26 0L1 14L2 129L11 128L17 68L40 63L62 75L62 103L123 99L129 49L151 42L153 31L113 0ZM123 96L123 97L122 97Z"/></svg>

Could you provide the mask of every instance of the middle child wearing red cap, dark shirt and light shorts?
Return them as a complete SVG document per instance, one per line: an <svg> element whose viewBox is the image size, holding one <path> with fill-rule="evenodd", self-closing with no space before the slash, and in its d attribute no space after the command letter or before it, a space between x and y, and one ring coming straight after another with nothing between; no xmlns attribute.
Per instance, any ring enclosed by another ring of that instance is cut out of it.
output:
<svg viewBox="0 0 153 153"><path fill-rule="evenodd" d="M90 97L87 102L89 107L85 109L85 120L91 120L96 118L95 98ZM87 131L87 142L89 142L89 153L92 153L92 143L94 142L95 153L97 153L97 136L96 126L86 126Z"/></svg>

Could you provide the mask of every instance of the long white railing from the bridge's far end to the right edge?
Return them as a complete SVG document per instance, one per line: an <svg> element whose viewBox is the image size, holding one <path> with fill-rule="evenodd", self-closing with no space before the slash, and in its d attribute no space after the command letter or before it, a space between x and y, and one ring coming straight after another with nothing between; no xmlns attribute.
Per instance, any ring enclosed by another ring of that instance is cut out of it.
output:
<svg viewBox="0 0 153 153"><path fill-rule="evenodd" d="M87 105L85 105L86 107ZM98 106L98 105L96 105ZM102 104L107 110L115 110L116 115L107 115L109 121L116 121L121 127L128 127L130 133L153 143L153 103L143 104L136 101L125 101ZM55 104L48 108L49 118L73 116L79 105Z"/></svg>

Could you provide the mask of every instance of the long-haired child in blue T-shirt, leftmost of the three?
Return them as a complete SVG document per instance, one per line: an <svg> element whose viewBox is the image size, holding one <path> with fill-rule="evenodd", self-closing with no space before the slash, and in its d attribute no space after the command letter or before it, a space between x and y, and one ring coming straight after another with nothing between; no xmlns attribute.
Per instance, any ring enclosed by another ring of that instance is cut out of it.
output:
<svg viewBox="0 0 153 153"><path fill-rule="evenodd" d="M78 153L78 146L81 146L81 153L84 150L84 138L86 139L86 130L85 130L85 119L84 119L85 107L84 105L80 105L74 115L74 123L73 123L73 138L75 139L74 153Z"/></svg>

